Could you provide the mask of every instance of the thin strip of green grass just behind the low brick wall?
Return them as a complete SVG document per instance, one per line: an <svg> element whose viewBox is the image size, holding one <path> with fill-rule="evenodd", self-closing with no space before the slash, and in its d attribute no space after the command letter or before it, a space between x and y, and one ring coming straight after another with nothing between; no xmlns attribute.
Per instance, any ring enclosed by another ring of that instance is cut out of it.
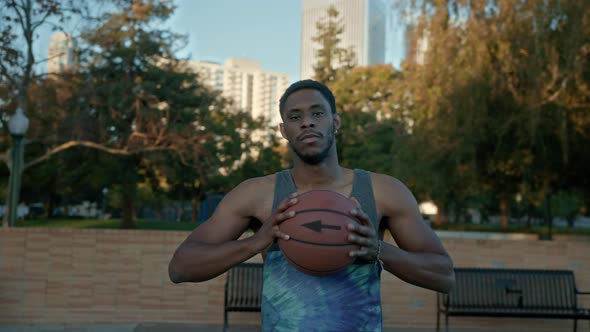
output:
<svg viewBox="0 0 590 332"><path fill-rule="evenodd" d="M161 220L137 220L135 229L140 230L161 230L161 231L192 231L197 227L193 222L175 222ZM49 228L102 228L102 229L119 229L121 226L120 219L34 219L18 220L16 227L49 227ZM496 233L529 233L529 234L548 234L547 226L533 226L525 228L522 226L511 225L506 229L501 229L498 225L489 224L445 224L434 225L435 230L448 230L459 232L496 232ZM572 234L572 235L590 235L589 228L558 228L553 227L553 234Z"/></svg>

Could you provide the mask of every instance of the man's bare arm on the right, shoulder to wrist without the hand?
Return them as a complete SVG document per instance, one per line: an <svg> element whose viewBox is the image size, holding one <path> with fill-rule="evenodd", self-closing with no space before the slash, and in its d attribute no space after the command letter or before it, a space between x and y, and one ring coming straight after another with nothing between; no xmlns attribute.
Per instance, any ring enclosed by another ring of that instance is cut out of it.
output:
<svg viewBox="0 0 590 332"><path fill-rule="evenodd" d="M449 292L455 283L453 261L440 239L422 220L418 203L398 180L374 175L376 199L399 248L382 244L381 259L387 271L416 286Z"/></svg>

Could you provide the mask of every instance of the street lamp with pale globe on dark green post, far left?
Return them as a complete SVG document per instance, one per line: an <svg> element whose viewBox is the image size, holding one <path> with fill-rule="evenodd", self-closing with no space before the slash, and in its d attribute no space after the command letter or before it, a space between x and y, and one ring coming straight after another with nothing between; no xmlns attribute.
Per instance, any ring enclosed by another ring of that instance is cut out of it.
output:
<svg viewBox="0 0 590 332"><path fill-rule="evenodd" d="M9 179L9 198L8 198L8 222L10 227L14 227L16 222L16 209L18 206L20 183L22 176L23 148L22 141L25 133L29 129L29 119L23 113L20 107L17 107L14 114L8 120L8 130L12 135L12 153Z"/></svg>

